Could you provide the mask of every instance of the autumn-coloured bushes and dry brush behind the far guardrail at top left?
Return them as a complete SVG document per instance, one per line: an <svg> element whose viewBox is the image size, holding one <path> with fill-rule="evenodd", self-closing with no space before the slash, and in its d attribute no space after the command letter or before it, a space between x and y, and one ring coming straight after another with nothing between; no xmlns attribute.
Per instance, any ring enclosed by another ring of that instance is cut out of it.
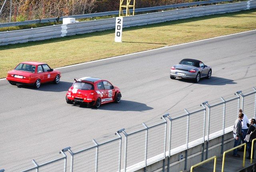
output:
<svg viewBox="0 0 256 172"><path fill-rule="evenodd" d="M5 0L0 1L2 8ZM193 2L194 0L136 0L135 8ZM125 0L126 2L126 0ZM133 2L133 0L131 1ZM0 22L19 22L119 10L120 0L6 0ZM11 9L11 14L10 14Z"/></svg>

